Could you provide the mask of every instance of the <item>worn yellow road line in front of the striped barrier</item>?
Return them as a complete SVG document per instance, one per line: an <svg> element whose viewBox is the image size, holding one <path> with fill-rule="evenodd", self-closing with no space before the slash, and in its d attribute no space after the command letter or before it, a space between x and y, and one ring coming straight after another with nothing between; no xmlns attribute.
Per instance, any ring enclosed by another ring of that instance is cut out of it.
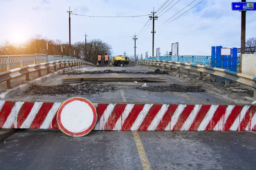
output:
<svg viewBox="0 0 256 170"><path fill-rule="evenodd" d="M138 150L138 153L140 155L140 161L141 161L143 169L144 170L151 170L151 167L150 167L150 164L149 164L149 161L148 161L148 157L145 153L145 149L144 149L143 144L140 140L139 133L137 131L133 131L132 133L134 135L134 141L136 143L137 150Z"/></svg>

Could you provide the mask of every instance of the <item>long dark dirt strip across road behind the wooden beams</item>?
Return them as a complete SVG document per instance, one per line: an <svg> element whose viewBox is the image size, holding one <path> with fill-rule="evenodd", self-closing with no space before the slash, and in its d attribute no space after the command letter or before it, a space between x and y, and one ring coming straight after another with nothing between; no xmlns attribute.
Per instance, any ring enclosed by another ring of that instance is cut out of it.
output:
<svg viewBox="0 0 256 170"><path fill-rule="evenodd" d="M104 71L68 71L63 74L76 75L76 74L108 74L108 73L116 73L116 74L169 74L167 70L160 71L160 69L156 69L155 71L115 71L115 70L104 70Z"/></svg>

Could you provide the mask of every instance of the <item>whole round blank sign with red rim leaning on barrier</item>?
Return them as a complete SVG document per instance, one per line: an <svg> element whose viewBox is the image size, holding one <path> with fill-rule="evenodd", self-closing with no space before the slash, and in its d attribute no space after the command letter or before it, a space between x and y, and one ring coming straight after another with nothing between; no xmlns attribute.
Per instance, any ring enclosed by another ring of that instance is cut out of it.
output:
<svg viewBox="0 0 256 170"><path fill-rule="evenodd" d="M72 97L61 104L57 113L57 122L60 130L66 135L85 136L96 125L96 108L87 99Z"/></svg>

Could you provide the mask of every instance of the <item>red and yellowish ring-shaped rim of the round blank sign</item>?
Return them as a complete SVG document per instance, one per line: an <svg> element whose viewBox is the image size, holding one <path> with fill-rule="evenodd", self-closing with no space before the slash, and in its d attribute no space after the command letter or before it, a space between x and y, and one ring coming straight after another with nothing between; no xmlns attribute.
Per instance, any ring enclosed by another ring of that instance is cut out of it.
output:
<svg viewBox="0 0 256 170"><path fill-rule="evenodd" d="M93 122L92 124L90 125L90 127L88 127L86 130L82 131L82 132L78 132L78 133L74 133L74 132L70 132L69 130L67 130L61 123L61 112L62 110L64 109L64 107L69 104L70 102L73 102L73 101L82 101L82 102L85 102L87 103L90 108L92 109L93 111ZM97 112L96 112L96 108L94 107L93 103L90 102L89 100L85 99L85 98L82 98L82 97L72 97L70 99L67 99L66 101L64 101L58 112L57 112L57 122L58 122L58 127L59 129L65 133L66 135L68 136L74 136L74 137L79 137L79 136L85 136L87 135L88 133L90 133L91 130L93 130L94 126L96 125L96 122L97 122Z"/></svg>

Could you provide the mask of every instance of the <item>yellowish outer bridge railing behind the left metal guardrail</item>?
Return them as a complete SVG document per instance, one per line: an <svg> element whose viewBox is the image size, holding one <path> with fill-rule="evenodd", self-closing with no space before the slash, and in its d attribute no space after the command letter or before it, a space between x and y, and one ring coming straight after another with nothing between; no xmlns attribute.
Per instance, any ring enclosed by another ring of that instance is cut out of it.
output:
<svg viewBox="0 0 256 170"><path fill-rule="evenodd" d="M74 60L76 57L53 55L53 60ZM26 65L48 62L47 54L31 55L4 55L0 56L0 72L8 71L14 68L20 68Z"/></svg>

